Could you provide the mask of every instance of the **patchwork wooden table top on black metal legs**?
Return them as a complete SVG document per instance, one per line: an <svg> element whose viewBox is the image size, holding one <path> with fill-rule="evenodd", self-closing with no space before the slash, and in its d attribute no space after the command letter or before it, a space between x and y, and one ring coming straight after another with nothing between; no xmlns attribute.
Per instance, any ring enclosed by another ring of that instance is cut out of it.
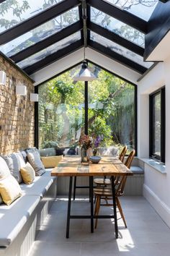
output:
<svg viewBox="0 0 170 256"><path fill-rule="evenodd" d="M99 163L81 163L78 155L65 156L58 166L53 168L51 176L122 176L133 175L119 159L102 157Z"/></svg>

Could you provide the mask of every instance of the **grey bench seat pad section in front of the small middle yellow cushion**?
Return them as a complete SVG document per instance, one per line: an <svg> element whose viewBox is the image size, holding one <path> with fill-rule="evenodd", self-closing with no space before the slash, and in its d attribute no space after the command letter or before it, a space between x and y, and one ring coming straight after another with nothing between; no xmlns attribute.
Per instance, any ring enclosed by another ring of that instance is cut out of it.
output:
<svg viewBox="0 0 170 256"><path fill-rule="evenodd" d="M32 184L22 183L20 186L24 195L38 195L42 198L51 184L53 184L53 179L50 176L36 176Z"/></svg>

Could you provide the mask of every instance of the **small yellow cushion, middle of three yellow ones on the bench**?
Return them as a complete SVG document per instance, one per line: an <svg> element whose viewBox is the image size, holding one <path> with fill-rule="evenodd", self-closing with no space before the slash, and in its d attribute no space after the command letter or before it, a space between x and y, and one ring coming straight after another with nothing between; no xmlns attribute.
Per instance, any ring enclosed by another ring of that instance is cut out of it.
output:
<svg viewBox="0 0 170 256"><path fill-rule="evenodd" d="M20 168L20 172L25 184L31 184L35 179L35 170L28 162L26 163L26 166Z"/></svg>

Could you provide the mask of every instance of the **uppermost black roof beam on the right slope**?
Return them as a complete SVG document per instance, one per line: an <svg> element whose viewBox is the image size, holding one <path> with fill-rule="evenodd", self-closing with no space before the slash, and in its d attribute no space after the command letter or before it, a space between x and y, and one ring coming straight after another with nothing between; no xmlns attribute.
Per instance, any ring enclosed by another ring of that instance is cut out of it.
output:
<svg viewBox="0 0 170 256"><path fill-rule="evenodd" d="M103 0L88 0L88 4L91 7L99 9L99 11L108 14L111 17L114 17L117 20L124 22L131 27L134 27L137 30L140 30L142 33L147 33L148 23L145 20L140 19L139 17L123 10L118 7L115 7L112 4L107 3Z"/></svg>

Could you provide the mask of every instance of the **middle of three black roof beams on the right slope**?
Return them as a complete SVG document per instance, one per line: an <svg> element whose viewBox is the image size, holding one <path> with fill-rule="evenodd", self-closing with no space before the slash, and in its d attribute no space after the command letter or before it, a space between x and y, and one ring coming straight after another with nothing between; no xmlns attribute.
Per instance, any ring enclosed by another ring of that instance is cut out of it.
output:
<svg viewBox="0 0 170 256"><path fill-rule="evenodd" d="M143 56L144 54L144 48L130 42L129 40L126 40L125 38L122 38L120 35L110 32L104 27L101 27L93 22L89 22L88 28L97 34L104 36L104 38L112 40L113 42L120 44L120 46L128 48L130 51L135 52L135 54L140 56Z"/></svg>

